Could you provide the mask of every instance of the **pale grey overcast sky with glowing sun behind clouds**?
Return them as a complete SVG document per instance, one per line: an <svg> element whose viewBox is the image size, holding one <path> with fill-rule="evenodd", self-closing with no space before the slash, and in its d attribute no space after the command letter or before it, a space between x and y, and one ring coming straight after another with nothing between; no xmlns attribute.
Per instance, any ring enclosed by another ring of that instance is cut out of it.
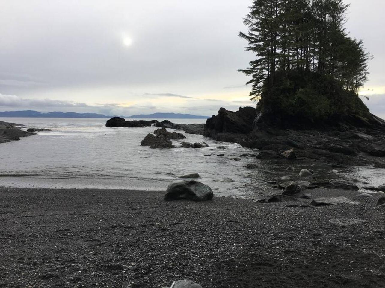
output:
<svg viewBox="0 0 385 288"><path fill-rule="evenodd" d="M216 114L249 101L237 72L251 0L1 0L0 111ZM385 116L385 1L346 23L374 59L365 103Z"/></svg>

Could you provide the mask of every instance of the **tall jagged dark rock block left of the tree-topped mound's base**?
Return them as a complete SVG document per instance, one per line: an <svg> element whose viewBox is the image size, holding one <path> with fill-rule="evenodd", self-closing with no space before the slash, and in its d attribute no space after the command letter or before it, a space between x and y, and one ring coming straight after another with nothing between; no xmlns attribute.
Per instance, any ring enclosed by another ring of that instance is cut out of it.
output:
<svg viewBox="0 0 385 288"><path fill-rule="evenodd" d="M220 108L218 115L206 120L204 136L215 138L218 133L248 134L253 130L256 108L243 107L237 112Z"/></svg>

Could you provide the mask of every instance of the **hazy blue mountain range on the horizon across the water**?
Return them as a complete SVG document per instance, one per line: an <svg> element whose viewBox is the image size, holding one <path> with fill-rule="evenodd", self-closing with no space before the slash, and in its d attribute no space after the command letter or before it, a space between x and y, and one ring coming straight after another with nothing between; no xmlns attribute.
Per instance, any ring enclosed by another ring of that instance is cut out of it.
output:
<svg viewBox="0 0 385 288"><path fill-rule="evenodd" d="M42 113L33 110L23 111L5 111L0 112L0 117L39 117L39 118L111 118L113 116L107 116L97 113L76 113L76 112L48 112ZM152 118L152 119L171 119L171 118L186 118L186 119L207 119L210 117L191 115L191 114L180 114L180 113L154 113L154 114L141 114L132 116L120 116L123 118Z"/></svg>

